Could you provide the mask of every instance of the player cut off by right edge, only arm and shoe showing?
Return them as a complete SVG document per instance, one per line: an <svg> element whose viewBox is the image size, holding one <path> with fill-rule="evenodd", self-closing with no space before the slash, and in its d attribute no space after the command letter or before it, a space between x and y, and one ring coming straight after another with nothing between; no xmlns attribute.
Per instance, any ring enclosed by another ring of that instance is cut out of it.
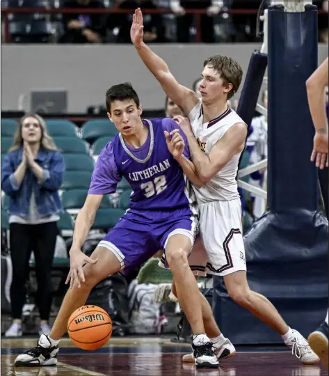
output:
<svg viewBox="0 0 329 376"><path fill-rule="evenodd" d="M307 99L315 128L311 161L319 169L328 169L328 118L326 117L325 88L328 85L328 58L315 70L306 81ZM328 115L327 115L328 116ZM328 184L328 183L327 183ZM328 205L328 197L324 198ZM328 211L328 210L327 210ZM328 311L326 319L316 331L308 337L312 350L319 355L328 368Z"/></svg>

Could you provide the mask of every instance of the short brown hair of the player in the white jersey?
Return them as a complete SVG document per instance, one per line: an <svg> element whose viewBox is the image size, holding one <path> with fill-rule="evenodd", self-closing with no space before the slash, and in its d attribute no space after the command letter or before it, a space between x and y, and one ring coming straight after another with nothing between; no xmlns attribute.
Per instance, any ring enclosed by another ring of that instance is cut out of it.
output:
<svg viewBox="0 0 329 376"><path fill-rule="evenodd" d="M220 78L223 79L224 84L232 84L232 90L227 93L227 99L233 97L238 91L242 79L242 68L233 58L227 56L215 55L206 58L203 62L203 67L209 66L218 72Z"/></svg>

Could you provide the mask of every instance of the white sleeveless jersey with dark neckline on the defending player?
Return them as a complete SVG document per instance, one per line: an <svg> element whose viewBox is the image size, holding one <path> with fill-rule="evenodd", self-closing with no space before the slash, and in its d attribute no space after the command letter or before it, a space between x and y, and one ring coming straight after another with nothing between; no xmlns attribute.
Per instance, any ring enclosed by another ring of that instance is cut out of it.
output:
<svg viewBox="0 0 329 376"><path fill-rule="evenodd" d="M230 107L217 118L203 123L202 102L195 104L188 118L195 138L206 155L209 155L216 142L224 136L232 125L244 123L240 116ZM223 169L218 171L214 178L209 180L203 187L197 188L193 185L198 203L229 201L240 197L236 182L240 155L241 153L234 155Z"/></svg>

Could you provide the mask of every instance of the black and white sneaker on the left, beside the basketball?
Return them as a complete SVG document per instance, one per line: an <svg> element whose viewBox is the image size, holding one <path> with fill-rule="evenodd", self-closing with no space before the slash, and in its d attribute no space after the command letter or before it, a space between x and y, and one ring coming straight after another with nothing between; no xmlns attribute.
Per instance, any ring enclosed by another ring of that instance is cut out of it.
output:
<svg viewBox="0 0 329 376"><path fill-rule="evenodd" d="M52 346L49 338L42 334L38 340L38 345L15 359L16 367L40 367L56 366L58 346Z"/></svg>

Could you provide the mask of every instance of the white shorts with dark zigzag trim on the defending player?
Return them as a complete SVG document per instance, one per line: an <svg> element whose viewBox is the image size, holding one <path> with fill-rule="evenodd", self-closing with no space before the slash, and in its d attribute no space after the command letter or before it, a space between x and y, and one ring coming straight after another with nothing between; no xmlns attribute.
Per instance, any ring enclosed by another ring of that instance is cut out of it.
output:
<svg viewBox="0 0 329 376"><path fill-rule="evenodd" d="M188 258L194 274L225 276L246 270L240 199L213 201L198 207L200 237Z"/></svg>

